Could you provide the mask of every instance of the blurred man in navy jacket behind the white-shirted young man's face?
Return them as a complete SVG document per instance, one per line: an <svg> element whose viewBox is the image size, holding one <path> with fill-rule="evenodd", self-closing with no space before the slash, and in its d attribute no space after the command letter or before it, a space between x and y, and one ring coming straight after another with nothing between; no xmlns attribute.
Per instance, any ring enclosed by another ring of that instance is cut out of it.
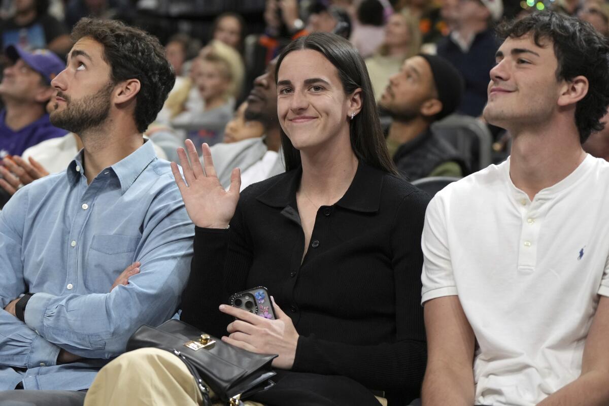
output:
<svg viewBox="0 0 609 406"><path fill-rule="evenodd" d="M438 43L465 78L465 94L457 111L479 117L487 103L488 72L495 66L499 44L492 29L503 13L502 0L445 0L442 14L451 33Z"/></svg>

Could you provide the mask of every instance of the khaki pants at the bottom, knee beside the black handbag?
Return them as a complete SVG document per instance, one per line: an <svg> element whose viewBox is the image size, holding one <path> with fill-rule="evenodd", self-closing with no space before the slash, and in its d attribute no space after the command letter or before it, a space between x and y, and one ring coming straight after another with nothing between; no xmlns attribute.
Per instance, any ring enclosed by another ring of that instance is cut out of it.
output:
<svg viewBox="0 0 609 406"><path fill-rule="evenodd" d="M377 399L387 405L385 399ZM186 365L174 354L157 348L126 352L108 363L85 397L85 406L197 406L202 402ZM264 406L252 401L244 404Z"/></svg>

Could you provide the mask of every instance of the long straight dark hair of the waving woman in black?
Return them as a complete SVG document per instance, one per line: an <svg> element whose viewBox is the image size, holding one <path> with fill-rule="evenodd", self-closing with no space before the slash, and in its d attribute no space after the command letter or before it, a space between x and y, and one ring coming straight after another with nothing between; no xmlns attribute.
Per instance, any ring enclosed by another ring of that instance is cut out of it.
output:
<svg viewBox="0 0 609 406"><path fill-rule="evenodd" d="M306 37L300 37L289 43L281 52L275 66L275 83L278 80L281 62L286 55L303 49L320 52L336 67L345 94L351 94L358 88L362 89L362 109L350 122L351 148L357 159L384 172L397 174L395 165L387 152L370 77L359 51L345 38L333 33L315 32ZM281 145L286 170L299 167L301 165L300 152L294 148L283 130L281 130Z"/></svg>

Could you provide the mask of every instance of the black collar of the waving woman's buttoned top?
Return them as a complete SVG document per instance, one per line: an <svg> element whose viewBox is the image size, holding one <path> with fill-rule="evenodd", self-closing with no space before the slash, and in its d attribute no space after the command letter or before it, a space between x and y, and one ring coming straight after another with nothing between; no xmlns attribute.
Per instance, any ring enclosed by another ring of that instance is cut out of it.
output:
<svg viewBox="0 0 609 406"><path fill-rule="evenodd" d="M295 205L296 191L300 186L301 175L302 168L286 172L256 199L265 205L276 208L285 208L290 204ZM336 205L360 212L378 211L384 175L385 173L381 170L360 161L351 185Z"/></svg>

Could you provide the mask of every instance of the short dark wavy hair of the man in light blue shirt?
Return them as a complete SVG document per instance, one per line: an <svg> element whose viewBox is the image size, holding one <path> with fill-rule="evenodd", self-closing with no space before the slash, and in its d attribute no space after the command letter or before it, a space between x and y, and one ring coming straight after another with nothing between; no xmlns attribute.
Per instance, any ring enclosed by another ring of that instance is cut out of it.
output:
<svg viewBox="0 0 609 406"><path fill-rule="evenodd" d="M137 79L135 124L143 133L157 117L174 87L175 73L156 37L121 21L81 18L72 29L72 41L91 38L104 46L113 83Z"/></svg>

